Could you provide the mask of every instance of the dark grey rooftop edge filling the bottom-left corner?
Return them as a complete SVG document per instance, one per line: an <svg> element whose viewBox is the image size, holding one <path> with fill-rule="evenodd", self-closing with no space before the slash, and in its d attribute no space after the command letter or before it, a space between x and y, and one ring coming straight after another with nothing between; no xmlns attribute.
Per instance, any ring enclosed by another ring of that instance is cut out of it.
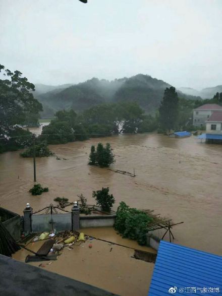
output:
<svg viewBox="0 0 222 296"><path fill-rule="evenodd" d="M0 294L111 296L112 292L0 255Z"/></svg>

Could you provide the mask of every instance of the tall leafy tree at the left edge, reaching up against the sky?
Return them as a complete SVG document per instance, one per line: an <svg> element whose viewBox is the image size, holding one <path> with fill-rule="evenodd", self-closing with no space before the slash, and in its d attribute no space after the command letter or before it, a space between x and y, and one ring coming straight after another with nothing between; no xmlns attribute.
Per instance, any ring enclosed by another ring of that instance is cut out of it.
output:
<svg viewBox="0 0 222 296"><path fill-rule="evenodd" d="M22 73L14 73L0 65L0 72L7 79L0 79L0 138L5 138L0 144L0 151L9 150L10 139L23 134L18 125L32 125L38 123L38 113L42 105L33 97L31 91L35 90L34 84L28 82ZM21 144L21 143L20 143ZM14 149L22 148L15 143Z"/></svg>

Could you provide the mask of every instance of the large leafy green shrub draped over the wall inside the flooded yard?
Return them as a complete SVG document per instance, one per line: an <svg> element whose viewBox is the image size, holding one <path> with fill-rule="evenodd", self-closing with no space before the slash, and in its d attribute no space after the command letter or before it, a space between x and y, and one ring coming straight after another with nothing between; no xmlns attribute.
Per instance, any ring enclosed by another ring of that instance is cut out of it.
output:
<svg viewBox="0 0 222 296"><path fill-rule="evenodd" d="M114 228L124 238L136 240L139 245L145 245L148 223L152 220L145 212L130 208L125 202L121 202L117 209Z"/></svg>

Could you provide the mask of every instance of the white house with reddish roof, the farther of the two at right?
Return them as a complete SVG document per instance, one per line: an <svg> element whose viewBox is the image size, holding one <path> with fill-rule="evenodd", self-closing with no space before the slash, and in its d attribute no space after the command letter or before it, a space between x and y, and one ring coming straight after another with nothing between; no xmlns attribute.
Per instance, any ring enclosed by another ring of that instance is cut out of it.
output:
<svg viewBox="0 0 222 296"><path fill-rule="evenodd" d="M205 126L206 121L214 111L222 112L222 106L217 104L205 104L193 110L193 125L195 127Z"/></svg>

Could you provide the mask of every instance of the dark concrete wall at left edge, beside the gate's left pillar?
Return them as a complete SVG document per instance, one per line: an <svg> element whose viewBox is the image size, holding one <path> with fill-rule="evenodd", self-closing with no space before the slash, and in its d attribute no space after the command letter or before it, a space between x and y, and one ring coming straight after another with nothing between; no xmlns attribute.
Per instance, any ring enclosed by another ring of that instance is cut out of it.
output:
<svg viewBox="0 0 222 296"><path fill-rule="evenodd" d="M20 240L20 215L13 213L9 210L0 208L0 215L5 215L8 217L7 220L3 221L3 225L9 231L9 233L13 236L16 241Z"/></svg>

